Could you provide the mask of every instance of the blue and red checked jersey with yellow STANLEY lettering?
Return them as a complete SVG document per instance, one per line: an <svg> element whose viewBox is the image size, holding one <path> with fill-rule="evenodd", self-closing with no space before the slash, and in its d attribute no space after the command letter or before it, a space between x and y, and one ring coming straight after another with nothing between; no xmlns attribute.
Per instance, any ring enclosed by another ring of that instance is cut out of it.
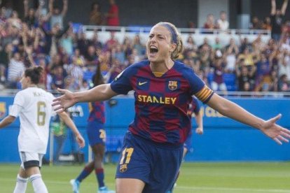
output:
<svg viewBox="0 0 290 193"><path fill-rule="evenodd" d="M151 71L149 61L133 64L111 83L118 94L134 90L135 117L129 126L132 134L158 143L180 144L191 130L188 105L192 95L206 103L213 92L189 68L174 62L160 77Z"/></svg>

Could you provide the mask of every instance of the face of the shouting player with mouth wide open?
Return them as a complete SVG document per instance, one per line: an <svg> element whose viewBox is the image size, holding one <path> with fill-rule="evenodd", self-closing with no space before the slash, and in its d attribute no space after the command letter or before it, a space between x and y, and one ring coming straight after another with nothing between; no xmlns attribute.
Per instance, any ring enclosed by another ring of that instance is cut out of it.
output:
<svg viewBox="0 0 290 193"><path fill-rule="evenodd" d="M162 62L170 58L172 43L170 31L162 25L154 26L149 34L146 52L150 62Z"/></svg>

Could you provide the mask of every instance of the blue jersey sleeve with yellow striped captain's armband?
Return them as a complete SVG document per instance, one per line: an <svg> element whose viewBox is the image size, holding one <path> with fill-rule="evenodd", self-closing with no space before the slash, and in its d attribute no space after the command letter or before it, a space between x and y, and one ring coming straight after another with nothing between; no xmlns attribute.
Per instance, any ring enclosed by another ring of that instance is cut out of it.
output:
<svg viewBox="0 0 290 193"><path fill-rule="evenodd" d="M185 75L191 87L191 95L195 95L202 103L207 103L212 98L214 92L205 85L192 69L186 71Z"/></svg>

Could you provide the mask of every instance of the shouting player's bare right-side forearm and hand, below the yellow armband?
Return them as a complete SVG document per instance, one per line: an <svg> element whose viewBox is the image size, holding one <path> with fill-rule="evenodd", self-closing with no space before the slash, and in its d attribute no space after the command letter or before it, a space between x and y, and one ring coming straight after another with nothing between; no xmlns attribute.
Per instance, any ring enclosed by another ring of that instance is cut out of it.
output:
<svg viewBox="0 0 290 193"><path fill-rule="evenodd" d="M276 121L279 120L281 114L265 121L252 115L236 103L228 101L217 94L212 96L207 105L219 111L219 113L226 117L230 117L233 120L237 120L238 122L242 122L261 130L263 134L272 138L279 145L282 144L282 141L289 142L287 138L290 138L290 131L276 124Z"/></svg>

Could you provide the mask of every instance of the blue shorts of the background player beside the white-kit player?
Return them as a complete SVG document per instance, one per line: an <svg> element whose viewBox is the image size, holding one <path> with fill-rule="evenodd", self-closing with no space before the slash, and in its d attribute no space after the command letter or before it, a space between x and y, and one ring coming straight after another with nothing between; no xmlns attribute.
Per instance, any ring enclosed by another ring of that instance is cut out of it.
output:
<svg viewBox="0 0 290 193"><path fill-rule="evenodd" d="M97 121L88 122L87 134L90 146L98 143L105 145L106 131L104 130L104 124Z"/></svg>

